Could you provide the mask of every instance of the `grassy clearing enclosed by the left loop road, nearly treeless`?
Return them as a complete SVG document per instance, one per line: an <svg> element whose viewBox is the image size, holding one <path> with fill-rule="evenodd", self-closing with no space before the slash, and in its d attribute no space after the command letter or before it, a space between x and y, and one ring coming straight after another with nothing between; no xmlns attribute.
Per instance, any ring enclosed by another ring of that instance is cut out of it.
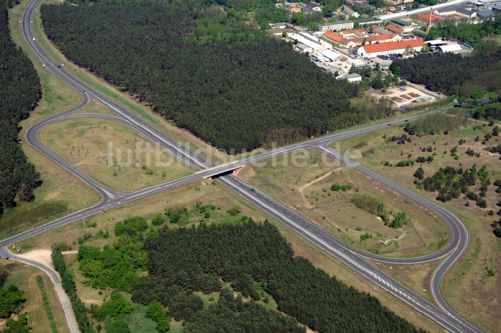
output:
<svg viewBox="0 0 501 333"><path fill-rule="evenodd" d="M150 140L110 119L63 120L44 127L39 137L86 175L119 191L138 190L193 171ZM141 149L151 149L151 153Z"/></svg>

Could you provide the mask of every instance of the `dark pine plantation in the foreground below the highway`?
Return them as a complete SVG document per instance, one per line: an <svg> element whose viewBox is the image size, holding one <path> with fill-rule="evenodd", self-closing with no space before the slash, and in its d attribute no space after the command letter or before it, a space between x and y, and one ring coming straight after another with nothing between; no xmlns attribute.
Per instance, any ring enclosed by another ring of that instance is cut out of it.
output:
<svg viewBox="0 0 501 333"><path fill-rule="evenodd" d="M304 258L294 257L277 227L267 221L164 227L150 235L143 248L148 253L148 275L132 289L132 300L168 306L174 319L187 320L186 331L243 331L237 328L253 327L253 317L266 314L252 303L232 300L219 278L253 299L260 298L255 290L260 283L277 302L278 310L321 333L417 331L377 298L346 286ZM221 291L222 299L202 311L201 299L193 291ZM241 317L235 311L241 311ZM273 331L300 331L292 328L291 321L267 318L282 327ZM217 329L228 328L226 324L234 329Z"/></svg>

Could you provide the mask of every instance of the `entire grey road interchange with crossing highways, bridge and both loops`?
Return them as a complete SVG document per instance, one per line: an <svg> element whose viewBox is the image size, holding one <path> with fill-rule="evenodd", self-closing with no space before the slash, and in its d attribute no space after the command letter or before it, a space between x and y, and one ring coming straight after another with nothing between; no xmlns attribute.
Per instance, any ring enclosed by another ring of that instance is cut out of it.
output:
<svg viewBox="0 0 501 333"><path fill-rule="evenodd" d="M79 92L83 96L82 97L83 101L80 105L71 110L59 113L57 115L44 119L30 126L29 128L26 129L24 137L25 140L28 142L28 144L33 145L35 148L44 153L47 157L51 158L52 160L60 164L63 168L74 174L76 177L80 178L82 181L89 184L89 186L96 189L96 191L100 193L102 201L99 204L94 205L92 207L83 209L79 212L72 213L56 221L47 223L40 227L21 233L17 236L13 236L9 239L0 241L0 248L4 248L9 244L19 242L23 239L32 237L34 235L38 235L47 230L58 228L68 223L72 223L74 221L80 220L92 214L101 213L103 208L111 209L119 207L134 200L144 198L146 196L164 191L166 189L175 186L187 184L188 182L192 182L201 178L208 178L220 175L221 173L231 171L242 165L257 161L262 161L266 158L278 156L284 153L293 152L297 149L302 149L302 148L317 149L340 159L341 161L346 163L349 167L353 167L360 170L361 172L367 174L368 176L374 178L375 180L378 180L383 184L392 187L394 190L416 200L420 204L436 212L439 216L441 216L444 219L447 225L451 228L450 243L440 251L432 255L421 258L401 259L401 258L387 258L387 257L372 255L350 247L348 244L329 234L325 230L317 227L315 224L311 223L300 214L285 207L283 204L271 198L270 196L263 193L259 189L255 189L252 186L245 184L244 182L232 176L221 176L218 178L218 180L222 185L226 186L234 193L238 194L248 202L262 209L270 216L276 218L278 221L282 222L287 227L296 231L305 239L309 240L319 248L323 249L337 260L346 264L355 272L363 275L364 277L366 277L368 280L370 280L380 288L392 293L397 298L401 299L405 303L415 308L417 311L423 313L424 315L428 316L429 318L431 318L432 320L443 326L445 329L453 332L480 331L478 327L474 326L473 324L471 324L470 322L459 316L457 313L455 313L453 309L450 308L450 306L447 304L447 302L445 301L440 292L440 282L443 275L450 268L450 266L459 258L459 256L461 255L461 253L464 251L464 249L468 244L469 234L465 226L462 224L462 222L452 213L436 205L435 203L432 203L431 201L420 197L414 192L402 188L397 184L387 180L386 178L372 172L371 170L362 167L358 163L346 158L345 156L339 154L337 151L329 148L328 146L330 142L336 140L385 128L386 126L402 124L406 121L417 120L439 111L429 112L423 115L417 115L406 119L400 119L398 121L393 121L391 123L384 123L380 125L341 132L334 135L324 136L315 140L309 140L298 144L281 147L279 149L267 151L255 156L246 157L231 162L229 164L216 166L210 163L209 161L205 160L195 152L191 151L186 146L180 144L170 136L151 126L149 123L144 121L142 118L138 117L136 114L132 113L131 111L127 110L121 105L115 103L114 101L108 99L106 96L100 94L99 92L97 92L96 90L94 90L93 88L91 88L90 86L83 83L82 81L80 81L79 79L68 73L66 70L64 70L64 67L61 66L61 64L57 64L55 61L53 61L47 55L47 53L40 47L40 45L34 40L34 35L32 32L31 20L33 17L34 10L39 3L40 0L32 0L28 4L27 8L23 13L22 29L23 29L23 34L25 36L25 40L28 46L31 48L31 50L33 50L33 52L37 55L37 57L39 57L39 59L45 64L45 69L52 72L63 82L65 82L66 84L74 88L77 92ZM83 108L88 102L88 98L93 98L97 102L106 106L113 113L115 113L116 116L96 115L96 114L92 115L72 114L74 111ZM191 165L192 167L196 168L199 171L184 176L182 178L162 183L153 187L141 189L139 191L130 193L122 193L106 188L103 185L99 184L92 178L83 174L77 168L73 167L71 164L67 163L64 159L62 159L60 156L55 154L52 150L48 149L38 141L37 132L48 123L68 119L71 117L91 117L91 116L108 117L110 119L120 121L130 126L140 134L154 141L157 145L159 145L163 149L167 150L169 153L171 153L179 160ZM441 258L445 259L438 266L430 282L432 294L436 300L436 304L438 305L438 307L432 304L431 302L425 300L423 297L419 296L417 293L413 292L409 288L405 287L403 284L393 279L389 275L378 270L376 267L374 267L366 260L366 259L372 259L389 263L421 263Z"/></svg>

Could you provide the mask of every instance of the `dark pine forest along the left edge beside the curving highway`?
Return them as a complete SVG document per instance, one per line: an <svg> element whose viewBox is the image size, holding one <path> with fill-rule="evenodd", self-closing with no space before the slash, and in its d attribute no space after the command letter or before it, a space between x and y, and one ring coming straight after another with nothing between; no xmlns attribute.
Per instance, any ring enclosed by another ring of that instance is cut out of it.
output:
<svg viewBox="0 0 501 333"><path fill-rule="evenodd" d="M0 215L6 207L35 199L40 174L19 142L19 122L28 118L42 93L30 59L11 40L7 6L0 1Z"/></svg>

